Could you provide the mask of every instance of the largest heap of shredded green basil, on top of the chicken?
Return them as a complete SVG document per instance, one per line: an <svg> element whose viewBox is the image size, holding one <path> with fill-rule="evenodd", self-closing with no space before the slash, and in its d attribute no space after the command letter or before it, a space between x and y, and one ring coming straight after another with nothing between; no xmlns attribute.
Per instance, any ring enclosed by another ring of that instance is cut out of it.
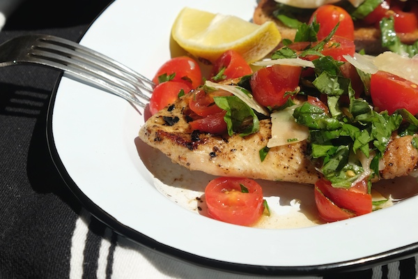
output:
<svg viewBox="0 0 418 279"><path fill-rule="evenodd" d="M378 113L366 100L355 98L350 80L339 70L341 62L330 56L313 62L316 78L312 84L327 95L329 112L304 103L295 109L293 116L297 123L309 128L311 157L322 165L320 172L332 186L348 188L364 172L357 153L362 152L369 158L373 152L374 158L381 158L403 116L399 112L390 116L387 112ZM345 101L341 102L343 96ZM378 174L378 160L373 159L372 164L373 177Z"/></svg>

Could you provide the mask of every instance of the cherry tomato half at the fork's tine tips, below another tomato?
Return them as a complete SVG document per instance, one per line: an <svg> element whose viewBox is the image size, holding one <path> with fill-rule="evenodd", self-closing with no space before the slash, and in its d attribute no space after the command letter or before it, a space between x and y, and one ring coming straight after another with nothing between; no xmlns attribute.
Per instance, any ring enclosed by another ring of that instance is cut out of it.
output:
<svg viewBox="0 0 418 279"><path fill-rule="evenodd" d="M163 82L155 86L153 95L150 98L150 113L155 114L167 105L174 103L180 91L188 93L192 90L192 86L185 82Z"/></svg>

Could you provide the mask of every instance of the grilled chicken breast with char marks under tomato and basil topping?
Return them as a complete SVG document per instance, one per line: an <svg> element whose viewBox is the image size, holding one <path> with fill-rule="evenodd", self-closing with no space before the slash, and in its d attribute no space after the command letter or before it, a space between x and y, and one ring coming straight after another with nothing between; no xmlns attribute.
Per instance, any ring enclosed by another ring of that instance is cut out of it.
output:
<svg viewBox="0 0 418 279"><path fill-rule="evenodd" d="M174 163L215 176L245 176L251 179L314 184L320 173L307 155L307 142L270 149L261 161L259 151L271 135L269 119L260 121L258 133L210 135L193 131L187 123L191 93L154 114L139 131L139 138L162 151ZM418 151L410 136L392 140L381 161L382 177L407 175L418 163Z"/></svg>

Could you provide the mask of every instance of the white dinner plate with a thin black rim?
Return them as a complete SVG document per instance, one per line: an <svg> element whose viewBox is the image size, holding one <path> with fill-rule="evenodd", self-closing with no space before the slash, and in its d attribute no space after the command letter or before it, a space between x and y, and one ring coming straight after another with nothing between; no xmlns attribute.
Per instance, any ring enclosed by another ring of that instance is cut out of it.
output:
<svg viewBox="0 0 418 279"><path fill-rule="evenodd" d="M181 53L170 29L185 6L251 20L256 1L118 0L81 43L151 78ZM119 234L166 255L239 273L314 275L363 269L418 251L418 197L320 224L312 213L311 186L261 181L273 211L270 221L231 225L204 213L200 197L212 176L174 165L141 142L144 112L127 101L63 77L48 123L52 158L84 206ZM414 195L415 185L405 178L384 189L396 193L403 186Z"/></svg>

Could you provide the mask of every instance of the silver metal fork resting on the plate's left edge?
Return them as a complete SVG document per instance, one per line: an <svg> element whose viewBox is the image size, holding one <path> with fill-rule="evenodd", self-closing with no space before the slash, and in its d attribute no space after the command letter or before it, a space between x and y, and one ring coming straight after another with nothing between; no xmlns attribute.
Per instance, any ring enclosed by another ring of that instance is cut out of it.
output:
<svg viewBox="0 0 418 279"><path fill-rule="evenodd" d="M97 86L145 108L155 84L131 68L70 40L49 35L20 36L0 45L0 67L38 64Z"/></svg>

